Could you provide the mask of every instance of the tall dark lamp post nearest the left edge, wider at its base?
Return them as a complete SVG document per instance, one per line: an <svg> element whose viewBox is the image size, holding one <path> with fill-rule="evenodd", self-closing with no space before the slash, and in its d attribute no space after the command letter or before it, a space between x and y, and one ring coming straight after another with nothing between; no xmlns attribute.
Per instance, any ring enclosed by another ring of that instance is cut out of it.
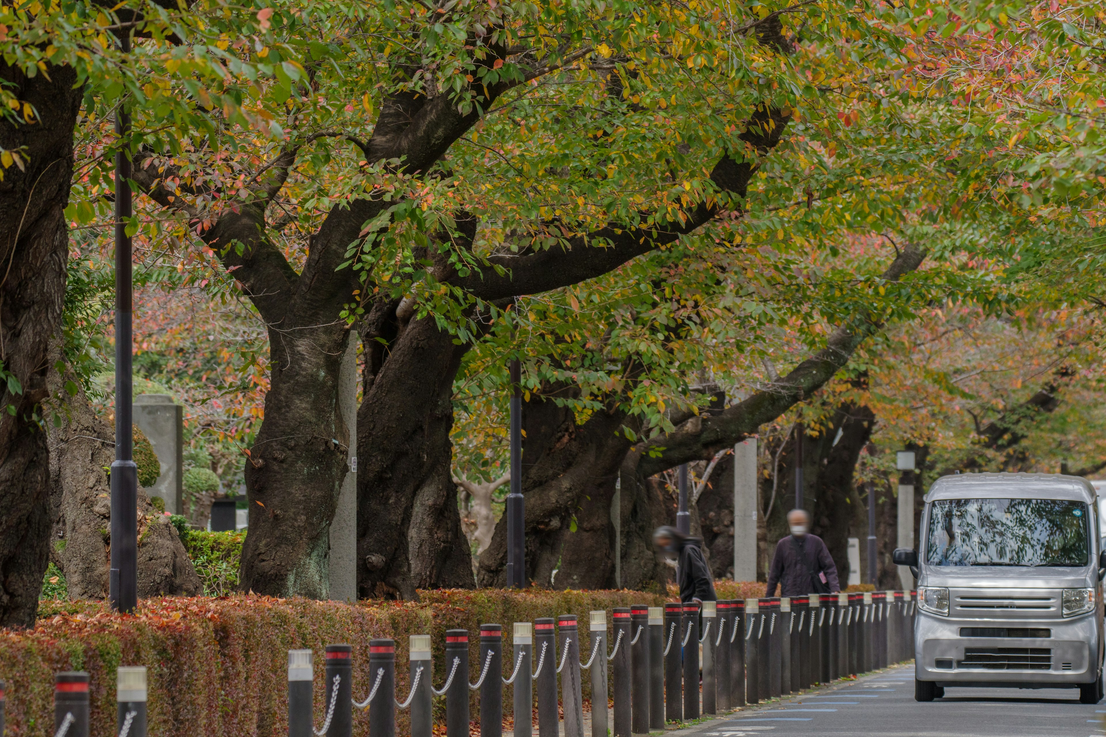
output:
<svg viewBox="0 0 1106 737"><path fill-rule="evenodd" d="M119 39L131 53L131 35ZM121 104L115 112L115 461L112 463L112 568L108 577L112 608L133 612L138 606L138 467L132 459L132 215L129 144L131 116Z"/></svg>

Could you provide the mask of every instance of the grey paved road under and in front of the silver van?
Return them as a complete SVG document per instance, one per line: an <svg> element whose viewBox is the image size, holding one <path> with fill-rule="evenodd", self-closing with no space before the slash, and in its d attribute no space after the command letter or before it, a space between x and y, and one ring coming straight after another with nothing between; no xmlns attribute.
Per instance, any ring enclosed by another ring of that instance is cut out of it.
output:
<svg viewBox="0 0 1106 737"><path fill-rule="evenodd" d="M696 737L1104 737L1106 701L1079 704L1076 689L946 688L914 701L914 666L899 666L778 704L738 712ZM691 730L688 730L691 731Z"/></svg>

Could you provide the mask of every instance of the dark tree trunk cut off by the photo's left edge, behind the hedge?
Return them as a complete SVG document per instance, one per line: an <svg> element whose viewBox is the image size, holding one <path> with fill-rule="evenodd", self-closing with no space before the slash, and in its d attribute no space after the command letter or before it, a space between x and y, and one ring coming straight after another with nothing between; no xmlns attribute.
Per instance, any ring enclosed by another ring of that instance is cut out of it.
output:
<svg viewBox="0 0 1106 737"><path fill-rule="evenodd" d="M50 463L36 415L65 295L62 211L82 98L73 70L49 69L49 78L28 78L0 60L0 82L39 115L33 123L0 119L0 147L22 149L25 161L0 181L0 627L34 623L49 556Z"/></svg>

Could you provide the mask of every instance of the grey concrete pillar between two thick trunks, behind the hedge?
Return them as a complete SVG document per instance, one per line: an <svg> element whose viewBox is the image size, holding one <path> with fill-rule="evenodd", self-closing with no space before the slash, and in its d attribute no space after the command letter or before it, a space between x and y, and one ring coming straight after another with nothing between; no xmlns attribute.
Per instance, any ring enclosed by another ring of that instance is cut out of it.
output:
<svg viewBox="0 0 1106 737"><path fill-rule="evenodd" d="M338 492L338 506L331 523L331 600L357 601L357 344L349 330L349 345L338 369L338 412L349 431L348 472Z"/></svg>

